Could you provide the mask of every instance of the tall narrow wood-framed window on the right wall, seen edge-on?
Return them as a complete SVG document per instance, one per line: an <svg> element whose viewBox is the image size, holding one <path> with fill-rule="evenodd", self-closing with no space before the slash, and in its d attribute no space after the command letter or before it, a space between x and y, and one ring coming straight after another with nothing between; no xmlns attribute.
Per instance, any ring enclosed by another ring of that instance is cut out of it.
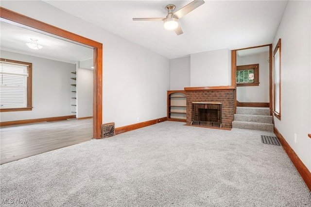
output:
<svg viewBox="0 0 311 207"><path fill-rule="evenodd" d="M273 112L277 119L281 120L281 39L276 43L276 48L273 52L273 62L274 62L274 108Z"/></svg>

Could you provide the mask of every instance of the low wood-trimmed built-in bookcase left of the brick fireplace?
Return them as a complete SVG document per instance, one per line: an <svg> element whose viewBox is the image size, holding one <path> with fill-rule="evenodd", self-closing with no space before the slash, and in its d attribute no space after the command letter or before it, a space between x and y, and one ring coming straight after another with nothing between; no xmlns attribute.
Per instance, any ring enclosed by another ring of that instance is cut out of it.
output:
<svg viewBox="0 0 311 207"><path fill-rule="evenodd" d="M170 90L167 93L168 121L186 121L186 91Z"/></svg>

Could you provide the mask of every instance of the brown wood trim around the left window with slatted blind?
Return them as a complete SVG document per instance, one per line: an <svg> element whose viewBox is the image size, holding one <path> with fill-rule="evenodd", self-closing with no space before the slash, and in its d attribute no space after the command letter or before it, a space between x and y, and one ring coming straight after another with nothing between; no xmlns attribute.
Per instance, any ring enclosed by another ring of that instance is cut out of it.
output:
<svg viewBox="0 0 311 207"><path fill-rule="evenodd" d="M27 62L21 62L17 60L9 60L0 58L0 61L7 63L17 63L22 65L28 65L28 77L27 77L27 107L23 108L0 108L0 112L9 112L9 111L31 111L33 110L33 64Z"/></svg>

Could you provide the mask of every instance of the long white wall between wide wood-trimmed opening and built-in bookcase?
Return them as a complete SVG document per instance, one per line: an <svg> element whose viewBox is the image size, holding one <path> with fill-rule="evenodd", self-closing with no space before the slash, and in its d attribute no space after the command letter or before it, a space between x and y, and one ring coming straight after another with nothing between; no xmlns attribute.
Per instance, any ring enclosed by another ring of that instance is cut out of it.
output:
<svg viewBox="0 0 311 207"><path fill-rule="evenodd" d="M167 116L169 59L43 1L1 0L1 7L103 43L103 123L120 127L137 123L137 118Z"/></svg>

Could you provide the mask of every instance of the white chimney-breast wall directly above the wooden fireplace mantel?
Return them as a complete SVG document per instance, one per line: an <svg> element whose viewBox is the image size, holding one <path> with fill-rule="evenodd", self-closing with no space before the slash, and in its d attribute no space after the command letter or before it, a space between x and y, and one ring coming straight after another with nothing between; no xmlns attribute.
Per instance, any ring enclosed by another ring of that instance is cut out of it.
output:
<svg viewBox="0 0 311 207"><path fill-rule="evenodd" d="M190 86L231 85L230 51L228 49L190 55Z"/></svg>

